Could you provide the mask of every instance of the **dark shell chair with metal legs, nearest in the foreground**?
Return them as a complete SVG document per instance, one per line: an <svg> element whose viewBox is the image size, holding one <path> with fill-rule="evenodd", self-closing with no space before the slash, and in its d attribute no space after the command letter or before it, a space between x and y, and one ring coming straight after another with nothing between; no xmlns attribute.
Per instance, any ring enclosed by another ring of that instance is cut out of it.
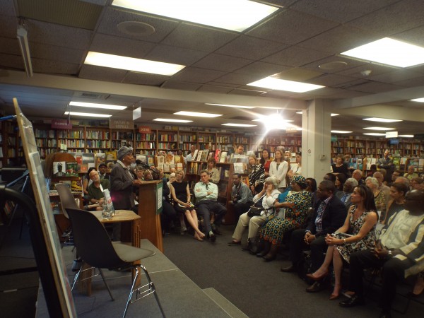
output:
<svg viewBox="0 0 424 318"><path fill-rule="evenodd" d="M153 295L155 296L156 302L158 302L160 312L162 313L163 317L165 317L162 306L159 302L158 295L155 290L155 285L153 285L148 271L141 264L133 264L134 261L153 256L155 252L150 251L148 249L141 249L139 247L132 247L121 243L112 242L109 236L107 235L107 231L103 227L102 223L100 223L98 218L96 218L93 213L79 210L76 208L66 208L66 211L68 212L69 218L71 219L73 240L75 242L75 246L78 249L78 253L80 254L81 258L87 264L98 268L100 271L100 275L102 275L101 269L110 269L114 271L125 271L126 269L134 269L136 271L136 274L134 275L134 281L131 285L131 291L129 293L128 300L126 301L126 306L122 317L125 317L126 311L128 310L128 306L130 303L144 298L147 295L150 295L151 293L153 293ZM145 273L148 283L140 287L136 287L135 285L139 276L139 269L142 269ZM77 273L73 285L75 285L79 273L81 273L81 269ZM103 275L102 278L103 281L105 281ZM105 285L107 286L106 281ZM110 289L108 286L107 289L110 293ZM133 301L131 300L131 298L134 293L136 293L136 297ZM110 297L113 300L112 293L110 293Z"/></svg>

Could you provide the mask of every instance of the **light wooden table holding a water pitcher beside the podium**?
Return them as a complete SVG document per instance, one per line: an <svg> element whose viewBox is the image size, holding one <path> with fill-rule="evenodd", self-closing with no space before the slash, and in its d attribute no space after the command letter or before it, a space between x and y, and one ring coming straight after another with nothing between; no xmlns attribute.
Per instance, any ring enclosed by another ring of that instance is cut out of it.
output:
<svg viewBox="0 0 424 318"><path fill-rule="evenodd" d="M102 224L110 224L117 222L131 222L131 245L134 247L140 247L141 240L141 217L134 213L133 211L128 210L115 210L115 215L112 218L102 218L102 211L91 211ZM141 264L140 260L134 261L133 264ZM90 268L90 265L84 264L87 268ZM81 276L81 279L88 278L92 276L91 271L85 271ZM136 275L135 269L131 271L131 277L134 279ZM137 278L136 285L140 284L141 275ZM91 279L86 279L83 281L83 290L86 290L87 295L91 295Z"/></svg>

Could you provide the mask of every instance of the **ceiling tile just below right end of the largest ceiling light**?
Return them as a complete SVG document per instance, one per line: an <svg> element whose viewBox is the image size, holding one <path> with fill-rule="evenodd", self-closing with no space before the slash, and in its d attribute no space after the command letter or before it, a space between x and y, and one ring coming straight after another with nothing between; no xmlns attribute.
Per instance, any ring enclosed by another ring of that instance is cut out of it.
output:
<svg viewBox="0 0 424 318"><path fill-rule="evenodd" d="M263 59L285 47L288 47L288 45L258 39L257 37L240 35L240 37L232 40L228 45L218 49L217 53L231 55L232 57L243 57L245 59Z"/></svg>

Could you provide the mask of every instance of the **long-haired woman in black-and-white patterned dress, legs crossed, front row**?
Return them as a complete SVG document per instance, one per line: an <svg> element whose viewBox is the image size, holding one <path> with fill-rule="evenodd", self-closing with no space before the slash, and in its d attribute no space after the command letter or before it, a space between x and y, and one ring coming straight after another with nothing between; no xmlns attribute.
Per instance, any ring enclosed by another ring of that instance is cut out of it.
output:
<svg viewBox="0 0 424 318"><path fill-rule="evenodd" d="M324 263L314 273L307 274L313 281L320 281L329 274L329 266L333 263L334 290L330 300L338 298L341 291L341 273L343 260L349 263L353 252L375 247L375 224L378 216L371 189L358 186L352 194L353 206L349 208L348 216L341 228L332 235L327 234L325 242L329 245ZM349 233L348 235L345 235Z"/></svg>

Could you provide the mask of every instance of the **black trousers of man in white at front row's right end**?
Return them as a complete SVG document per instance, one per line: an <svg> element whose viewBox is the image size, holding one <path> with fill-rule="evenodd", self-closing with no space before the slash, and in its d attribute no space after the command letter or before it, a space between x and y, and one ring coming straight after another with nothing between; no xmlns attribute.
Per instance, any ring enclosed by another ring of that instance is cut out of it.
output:
<svg viewBox="0 0 424 318"><path fill-rule="evenodd" d="M363 270L375 267L383 268L383 285L380 305L383 310L390 310L396 295L396 284L404 280L405 270L413 265L413 261L401 261L394 257L379 259L370 250L358 251L351 254L349 266L349 290L363 296Z"/></svg>

